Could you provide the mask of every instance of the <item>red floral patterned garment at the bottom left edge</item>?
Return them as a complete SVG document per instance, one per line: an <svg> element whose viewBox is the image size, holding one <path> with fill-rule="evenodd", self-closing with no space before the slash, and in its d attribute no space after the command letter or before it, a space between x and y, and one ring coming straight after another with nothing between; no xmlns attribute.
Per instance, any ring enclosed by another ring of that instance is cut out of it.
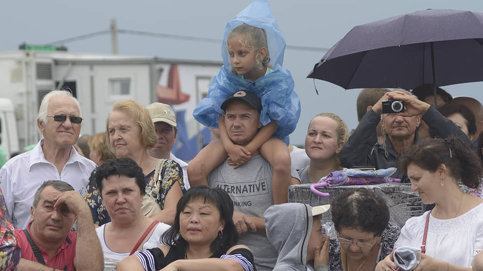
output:
<svg viewBox="0 0 483 271"><path fill-rule="evenodd" d="M20 248L16 248L15 231L0 189L0 270L13 271L20 261Z"/></svg>

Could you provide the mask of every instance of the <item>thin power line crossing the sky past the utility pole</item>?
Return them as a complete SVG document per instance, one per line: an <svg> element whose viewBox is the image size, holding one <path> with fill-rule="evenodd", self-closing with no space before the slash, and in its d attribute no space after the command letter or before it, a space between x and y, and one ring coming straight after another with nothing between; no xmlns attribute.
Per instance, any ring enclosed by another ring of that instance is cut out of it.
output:
<svg viewBox="0 0 483 271"><path fill-rule="evenodd" d="M80 36L75 36L71 38L66 38L62 40L57 40L54 42L49 42L47 45L53 44L64 44L68 42L73 42L81 39L91 38L94 36L105 35L109 34L110 30L103 30L97 31L89 34L84 34ZM195 36L184 36L184 35L175 35L175 34L164 34L164 33L155 33L155 32L147 32L147 31L137 31L137 30L128 30L128 29L117 29L117 33L121 34L131 34L131 35L138 35L138 36L148 36L148 37L159 37L159 38L171 38L171 39L181 39L181 40L190 40L190 41L198 41L198 42L210 42L210 43L221 43L223 42L222 39L218 38L204 38L204 37L195 37ZM287 45L287 49L293 50L301 50L301 51L316 51L316 52L326 52L328 48L322 47L309 47L309 46L297 46L297 45Z"/></svg>

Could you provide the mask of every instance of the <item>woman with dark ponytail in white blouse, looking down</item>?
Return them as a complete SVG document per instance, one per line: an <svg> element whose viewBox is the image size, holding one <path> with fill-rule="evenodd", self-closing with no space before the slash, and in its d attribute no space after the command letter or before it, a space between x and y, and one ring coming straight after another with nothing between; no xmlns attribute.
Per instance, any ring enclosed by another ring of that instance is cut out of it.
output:
<svg viewBox="0 0 483 271"><path fill-rule="evenodd" d="M479 185L482 164L476 152L459 137L426 139L401 153L398 165L423 203L436 206L406 221L394 247L424 249L417 270L470 271L483 250L483 200L461 191L459 183ZM390 268L397 268L392 254L376 270Z"/></svg>

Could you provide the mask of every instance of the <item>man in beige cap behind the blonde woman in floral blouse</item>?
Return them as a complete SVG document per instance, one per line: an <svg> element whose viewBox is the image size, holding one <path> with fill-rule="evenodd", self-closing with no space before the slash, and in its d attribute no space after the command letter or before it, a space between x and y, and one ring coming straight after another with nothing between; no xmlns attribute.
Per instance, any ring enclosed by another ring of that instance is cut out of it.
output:
<svg viewBox="0 0 483 271"><path fill-rule="evenodd" d="M171 150L176 142L178 129L176 129L176 117L171 106L162 103L152 103L146 107L153 120L156 129L156 136L158 136L158 143L148 150L148 154L158 159L172 159L180 164L183 169L183 182L186 190L190 189L188 182L188 173L186 168L188 164L176 157Z"/></svg>

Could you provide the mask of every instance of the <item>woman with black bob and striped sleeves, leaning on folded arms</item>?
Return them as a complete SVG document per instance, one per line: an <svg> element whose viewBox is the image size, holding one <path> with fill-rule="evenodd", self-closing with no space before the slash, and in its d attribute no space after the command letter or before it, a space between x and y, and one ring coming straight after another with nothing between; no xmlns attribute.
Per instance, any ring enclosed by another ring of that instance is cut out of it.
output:
<svg viewBox="0 0 483 271"><path fill-rule="evenodd" d="M154 249L136 252L117 266L133 270L253 271L253 255L236 245L233 201L224 190L205 185L189 189L178 202L175 222Z"/></svg>

